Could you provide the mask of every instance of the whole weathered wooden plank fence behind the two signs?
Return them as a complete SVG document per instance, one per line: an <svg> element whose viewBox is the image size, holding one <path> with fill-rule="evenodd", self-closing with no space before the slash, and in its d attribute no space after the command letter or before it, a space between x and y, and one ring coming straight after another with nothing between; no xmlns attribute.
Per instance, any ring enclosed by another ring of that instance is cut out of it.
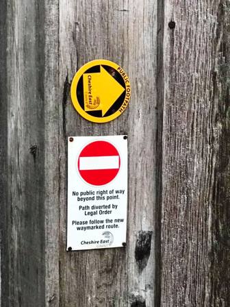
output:
<svg viewBox="0 0 230 307"><path fill-rule="evenodd" d="M230 306L229 0L1 0L1 307ZM129 108L71 103L98 58ZM66 138L127 134L127 246L66 252Z"/></svg>

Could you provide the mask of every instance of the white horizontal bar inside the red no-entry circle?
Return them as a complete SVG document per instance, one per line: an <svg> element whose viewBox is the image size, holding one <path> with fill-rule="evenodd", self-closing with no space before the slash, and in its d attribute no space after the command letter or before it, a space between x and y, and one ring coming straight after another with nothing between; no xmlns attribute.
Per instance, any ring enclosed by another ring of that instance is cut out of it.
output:
<svg viewBox="0 0 230 307"><path fill-rule="evenodd" d="M79 169L119 169L119 156L80 157Z"/></svg>

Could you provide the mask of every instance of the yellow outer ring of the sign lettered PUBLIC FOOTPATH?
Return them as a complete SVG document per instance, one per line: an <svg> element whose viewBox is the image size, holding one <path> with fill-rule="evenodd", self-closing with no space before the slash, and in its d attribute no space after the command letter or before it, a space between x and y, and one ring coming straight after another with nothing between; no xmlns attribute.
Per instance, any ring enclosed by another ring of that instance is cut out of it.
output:
<svg viewBox="0 0 230 307"><path fill-rule="evenodd" d="M92 116L88 114L85 110L81 108L79 101L77 99L77 84L79 82L79 79L86 71L88 71L88 69L96 65L111 66L121 75L121 77L123 77L125 81L125 99L123 101L122 106L119 108L119 110L117 110L113 114L109 116L105 116L105 117L96 117L96 116ZM127 74L123 71L123 69L118 64L111 62L109 60L93 60L93 61L86 63L84 66L81 66L79 71L77 71L77 73L73 77L73 82L71 84L71 99L73 102L73 106L75 107L77 112L82 117L84 117L84 119L87 119L88 121L92 121L94 123L107 123L108 121L113 121L114 119L116 119L116 117L120 116L127 108L129 104L130 96L131 96L131 87L130 87L129 77L127 77Z"/></svg>

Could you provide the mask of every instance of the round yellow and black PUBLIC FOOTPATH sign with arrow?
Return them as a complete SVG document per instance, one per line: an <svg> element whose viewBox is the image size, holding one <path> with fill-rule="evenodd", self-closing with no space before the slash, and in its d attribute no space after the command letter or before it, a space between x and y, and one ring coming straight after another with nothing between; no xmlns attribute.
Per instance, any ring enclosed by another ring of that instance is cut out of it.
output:
<svg viewBox="0 0 230 307"><path fill-rule="evenodd" d="M73 77L73 106L88 121L106 123L116 119L129 104L131 88L123 69L108 60L86 63Z"/></svg>

